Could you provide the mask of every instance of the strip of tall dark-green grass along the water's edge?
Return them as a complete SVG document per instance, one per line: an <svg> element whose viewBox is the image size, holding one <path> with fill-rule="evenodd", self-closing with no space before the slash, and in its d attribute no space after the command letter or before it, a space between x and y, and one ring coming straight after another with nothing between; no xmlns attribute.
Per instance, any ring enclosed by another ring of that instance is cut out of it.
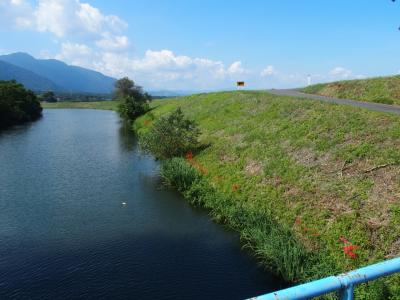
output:
<svg viewBox="0 0 400 300"><path fill-rule="evenodd" d="M294 236L289 227L275 221L269 211L259 211L235 201L240 187L232 186L232 195L218 191L207 176L207 170L192 153L186 158L175 157L161 163L160 175L165 185L177 189L192 205L205 208L218 223L240 234L243 248L250 250L259 263L291 284L298 284L338 274L324 252L309 251ZM345 255L354 257L354 245L344 241ZM388 299L383 280L361 285L357 299ZM337 299L332 293L321 299Z"/></svg>

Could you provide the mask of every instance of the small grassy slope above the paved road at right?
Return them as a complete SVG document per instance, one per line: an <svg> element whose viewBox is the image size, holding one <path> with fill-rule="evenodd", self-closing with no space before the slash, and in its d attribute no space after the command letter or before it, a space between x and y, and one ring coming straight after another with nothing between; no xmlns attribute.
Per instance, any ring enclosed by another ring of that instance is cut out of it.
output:
<svg viewBox="0 0 400 300"><path fill-rule="evenodd" d="M400 105L400 76L316 84L302 89L309 94Z"/></svg>

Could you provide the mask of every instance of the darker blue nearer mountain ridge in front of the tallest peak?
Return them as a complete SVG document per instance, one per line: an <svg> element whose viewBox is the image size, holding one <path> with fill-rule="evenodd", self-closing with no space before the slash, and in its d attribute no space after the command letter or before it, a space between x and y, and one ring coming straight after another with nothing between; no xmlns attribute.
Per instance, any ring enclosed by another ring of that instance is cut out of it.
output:
<svg viewBox="0 0 400 300"><path fill-rule="evenodd" d="M53 81L26 69L0 61L0 80L13 80L22 83L26 88L36 91L63 91Z"/></svg>

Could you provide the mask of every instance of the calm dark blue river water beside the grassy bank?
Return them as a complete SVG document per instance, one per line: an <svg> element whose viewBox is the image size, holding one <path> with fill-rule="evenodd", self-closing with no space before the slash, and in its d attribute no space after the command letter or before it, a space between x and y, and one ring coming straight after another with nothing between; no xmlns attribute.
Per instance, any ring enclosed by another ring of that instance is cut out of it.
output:
<svg viewBox="0 0 400 300"><path fill-rule="evenodd" d="M242 299L279 287L235 233L160 189L114 112L45 110L0 134L0 299Z"/></svg>

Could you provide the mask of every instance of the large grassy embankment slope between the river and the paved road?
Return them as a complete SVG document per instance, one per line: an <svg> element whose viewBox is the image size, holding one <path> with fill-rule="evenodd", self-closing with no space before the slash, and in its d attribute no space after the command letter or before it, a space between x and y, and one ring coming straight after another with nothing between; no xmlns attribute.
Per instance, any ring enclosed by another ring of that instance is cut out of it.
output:
<svg viewBox="0 0 400 300"><path fill-rule="evenodd" d="M202 204L284 278L306 281L400 255L398 116L263 92L152 106L136 121L139 133L177 107L196 120L210 146L195 164L209 182L205 193L214 190ZM357 247L356 258L344 252L343 238ZM395 276L358 295L385 299L400 296L399 288Z"/></svg>

